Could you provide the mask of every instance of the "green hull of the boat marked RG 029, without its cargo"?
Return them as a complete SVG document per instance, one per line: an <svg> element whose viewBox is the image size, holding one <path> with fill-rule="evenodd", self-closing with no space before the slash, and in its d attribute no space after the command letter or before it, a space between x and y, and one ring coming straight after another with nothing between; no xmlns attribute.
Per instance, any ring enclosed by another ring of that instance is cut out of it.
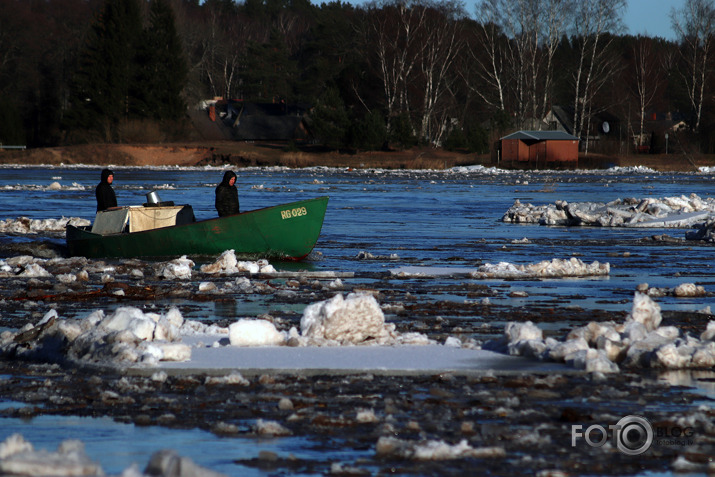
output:
<svg viewBox="0 0 715 477"><path fill-rule="evenodd" d="M300 260L315 247L328 197L135 233L96 234L67 226L70 255L166 257L216 255L234 250L245 258Z"/></svg>

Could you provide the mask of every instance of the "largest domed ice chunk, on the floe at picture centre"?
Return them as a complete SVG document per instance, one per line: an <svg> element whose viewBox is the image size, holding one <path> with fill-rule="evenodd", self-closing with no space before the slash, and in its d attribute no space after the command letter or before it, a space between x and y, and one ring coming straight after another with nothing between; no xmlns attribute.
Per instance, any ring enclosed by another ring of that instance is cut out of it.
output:
<svg viewBox="0 0 715 477"><path fill-rule="evenodd" d="M300 329L304 337L353 344L389 334L385 315L375 297L355 293L347 298L338 294L330 300L308 305L303 311Z"/></svg>

